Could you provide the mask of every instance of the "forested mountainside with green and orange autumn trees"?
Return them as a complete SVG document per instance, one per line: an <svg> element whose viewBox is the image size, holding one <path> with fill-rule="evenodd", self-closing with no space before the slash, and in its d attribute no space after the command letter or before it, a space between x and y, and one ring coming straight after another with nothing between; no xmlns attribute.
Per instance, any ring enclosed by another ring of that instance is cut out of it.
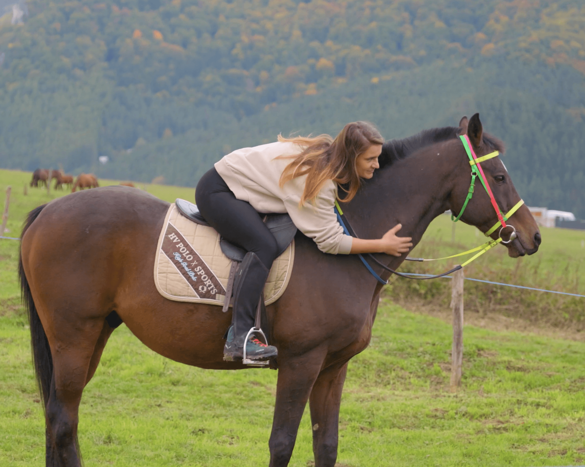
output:
<svg viewBox="0 0 585 467"><path fill-rule="evenodd" d="M278 133L479 111L531 205L585 218L577 0L29 0L0 18L0 166L194 186ZM98 164L98 156L110 162Z"/></svg>

